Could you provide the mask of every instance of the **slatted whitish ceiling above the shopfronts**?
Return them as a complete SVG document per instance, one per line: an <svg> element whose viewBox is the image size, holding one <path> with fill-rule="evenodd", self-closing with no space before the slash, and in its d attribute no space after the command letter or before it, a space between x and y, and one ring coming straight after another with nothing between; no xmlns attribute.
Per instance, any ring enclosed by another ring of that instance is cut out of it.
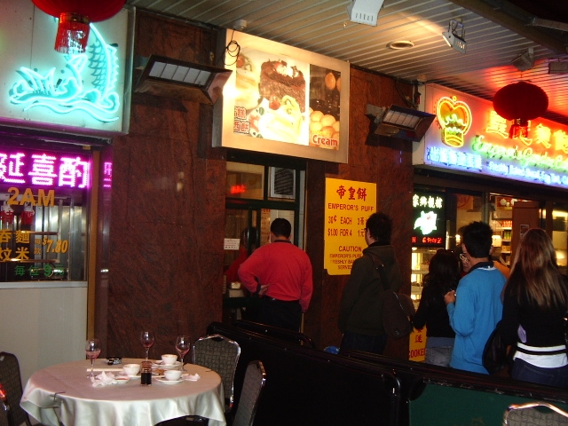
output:
<svg viewBox="0 0 568 426"><path fill-rule="evenodd" d="M546 7L554 1L540 0L540 3ZM375 27L351 22L347 12L351 0L127 0L126 3L221 28L234 28L236 20L246 20L247 27L242 31L253 36L346 60L357 67L410 82L425 75L429 83L490 100L509 83L531 81L548 94L548 112L543 116L568 124L568 75L548 75L549 60L568 60L566 29L527 25L533 15L505 1L385 0ZM463 22L466 54L448 47L441 36L452 19ZM392 50L387 44L393 41L410 41L414 47ZM511 63L529 48L533 49L535 64L521 72Z"/></svg>

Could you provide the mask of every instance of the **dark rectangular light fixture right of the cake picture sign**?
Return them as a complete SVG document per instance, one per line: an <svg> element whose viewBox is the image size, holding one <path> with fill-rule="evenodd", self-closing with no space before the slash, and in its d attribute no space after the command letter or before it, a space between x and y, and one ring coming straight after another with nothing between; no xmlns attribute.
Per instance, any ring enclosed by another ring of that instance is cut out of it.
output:
<svg viewBox="0 0 568 426"><path fill-rule="evenodd" d="M372 120L372 130L375 135L414 142L422 139L436 118L435 114L397 105L386 107L367 104L366 115Z"/></svg>

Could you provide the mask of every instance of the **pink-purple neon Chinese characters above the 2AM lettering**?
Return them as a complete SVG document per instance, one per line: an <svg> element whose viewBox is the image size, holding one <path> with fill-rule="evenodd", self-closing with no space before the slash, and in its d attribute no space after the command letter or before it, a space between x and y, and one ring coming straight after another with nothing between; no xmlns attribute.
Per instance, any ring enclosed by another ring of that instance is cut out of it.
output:
<svg viewBox="0 0 568 426"><path fill-rule="evenodd" d="M0 150L0 184L83 189L91 186L91 159L76 154Z"/></svg>

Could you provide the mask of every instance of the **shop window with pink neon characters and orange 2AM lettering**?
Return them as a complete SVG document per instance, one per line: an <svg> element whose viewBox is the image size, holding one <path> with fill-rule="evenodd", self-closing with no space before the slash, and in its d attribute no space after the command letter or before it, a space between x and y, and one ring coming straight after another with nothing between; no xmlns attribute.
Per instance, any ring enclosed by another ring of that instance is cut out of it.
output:
<svg viewBox="0 0 568 426"><path fill-rule="evenodd" d="M91 156L0 146L0 282L86 280Z"/></svg>

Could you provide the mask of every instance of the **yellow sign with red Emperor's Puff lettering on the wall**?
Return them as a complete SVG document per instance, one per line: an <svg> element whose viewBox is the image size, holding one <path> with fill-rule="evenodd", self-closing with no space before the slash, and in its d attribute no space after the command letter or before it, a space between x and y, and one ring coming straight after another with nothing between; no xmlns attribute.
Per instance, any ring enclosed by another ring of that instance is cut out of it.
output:
<svg viewBox="0 0 568 426"><path fill-rule="evenodd" d="M324 268L329 275L348 275L362 256L367 218L376 211L376 184L326 178Z"/></svg>

